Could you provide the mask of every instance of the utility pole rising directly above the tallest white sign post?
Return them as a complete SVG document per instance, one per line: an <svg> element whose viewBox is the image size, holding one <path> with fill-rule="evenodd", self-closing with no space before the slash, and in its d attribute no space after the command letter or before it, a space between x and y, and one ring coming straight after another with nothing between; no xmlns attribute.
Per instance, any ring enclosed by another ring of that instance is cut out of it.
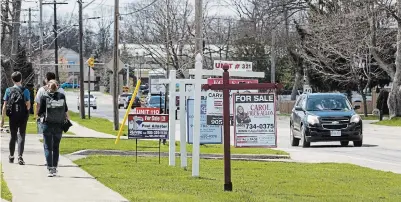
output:
<svg viewBox="0 0 401 202"><path fill-rule="evenodd" d="M195 55L198 53L203 55L202 44L203 44L203 2L202 0L196 0L195 2Z"/></svg>

